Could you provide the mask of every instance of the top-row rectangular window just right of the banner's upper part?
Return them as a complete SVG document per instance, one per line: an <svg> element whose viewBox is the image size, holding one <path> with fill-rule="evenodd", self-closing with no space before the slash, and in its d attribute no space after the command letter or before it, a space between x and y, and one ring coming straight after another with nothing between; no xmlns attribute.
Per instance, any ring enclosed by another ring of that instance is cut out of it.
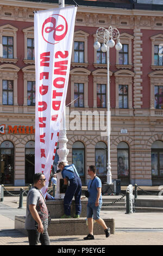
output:
<svg viewBox="0 0 163 256"><path fill-rule="evenodd" d="M74 62L84 63L84 42L74 42Z"/></svg>

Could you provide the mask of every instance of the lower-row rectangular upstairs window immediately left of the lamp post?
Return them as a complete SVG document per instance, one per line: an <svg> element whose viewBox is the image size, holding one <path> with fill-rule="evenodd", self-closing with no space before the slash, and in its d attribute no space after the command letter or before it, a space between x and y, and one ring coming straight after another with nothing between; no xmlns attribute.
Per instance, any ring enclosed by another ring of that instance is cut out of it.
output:
<svg viewBox="0 0 163 256"><path fill-rule="evenodd" d="M106 107L106 84L97 84L97 107Z"/></svg>

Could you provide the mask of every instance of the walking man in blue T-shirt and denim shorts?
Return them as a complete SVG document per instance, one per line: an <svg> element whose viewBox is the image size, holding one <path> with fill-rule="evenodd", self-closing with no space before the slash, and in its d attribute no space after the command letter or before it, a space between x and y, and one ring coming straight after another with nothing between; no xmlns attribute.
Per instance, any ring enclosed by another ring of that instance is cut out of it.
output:
<svg viewBox="0 0 163 256"><path fill-rule="evenodd" d="M104 231L105 236L109 237L110 228L108 228L102 218L99 217L102 206L102 193L101 193L101 179L96 176L96 167L89 166L88 174L91 176L87 188L89 191L89 199L87 203L87 223L89 228L89 234L84 237L84 240L93 240L93 219L100 224Z"/></svg>

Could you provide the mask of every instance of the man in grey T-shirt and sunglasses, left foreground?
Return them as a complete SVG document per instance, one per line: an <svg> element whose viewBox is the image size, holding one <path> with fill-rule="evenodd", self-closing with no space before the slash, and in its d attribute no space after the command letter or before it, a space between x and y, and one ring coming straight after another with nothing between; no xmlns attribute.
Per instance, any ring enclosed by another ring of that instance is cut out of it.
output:
<svg viewBox="0 0 163 256"><path fill-rule="evenodd" d="M45 186L46 178L42 173L34 174L34 186L27 195L26 229L29 245L49 245L48 210L41 188Z"/></svg>

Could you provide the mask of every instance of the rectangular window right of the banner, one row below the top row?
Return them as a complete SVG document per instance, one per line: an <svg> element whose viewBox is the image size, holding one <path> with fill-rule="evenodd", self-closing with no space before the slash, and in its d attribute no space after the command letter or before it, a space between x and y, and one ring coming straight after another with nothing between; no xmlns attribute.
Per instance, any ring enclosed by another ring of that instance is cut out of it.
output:
<svg viewBox="0 0 163 256"><path fill-rule="evenodd" d="M74 107L84 107L84 83L74 83Z"/></svg>

